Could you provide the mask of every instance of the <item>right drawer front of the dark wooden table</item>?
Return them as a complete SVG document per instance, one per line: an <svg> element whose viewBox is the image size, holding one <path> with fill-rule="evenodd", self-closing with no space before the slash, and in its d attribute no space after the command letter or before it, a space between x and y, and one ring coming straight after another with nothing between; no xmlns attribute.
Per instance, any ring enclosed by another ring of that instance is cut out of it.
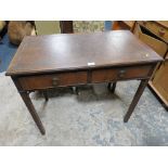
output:
<svg viewBox="0 0 168 168"><path fill-rule="evenodd" d="M126 80L134 78L146 78L148 77L150 65L143 65L139 67L122 67L122 68L112 68L112 69L96 69L92 72L92 82L105 82L113 80Z"/></svg>

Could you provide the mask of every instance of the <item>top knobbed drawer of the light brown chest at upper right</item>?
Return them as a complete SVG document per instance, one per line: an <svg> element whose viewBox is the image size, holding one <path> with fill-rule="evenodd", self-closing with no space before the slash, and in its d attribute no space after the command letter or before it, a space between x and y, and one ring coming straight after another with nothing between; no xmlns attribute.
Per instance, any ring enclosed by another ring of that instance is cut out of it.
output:
<svg viewBox="0 0 168 168"><path fill-rule="evenodd" d="M144 27L146 27L148 30L151 30L153 34L157 35L159 38L168 42L168 29L167 28L152 21L141 22L141 24Z"/></svg>

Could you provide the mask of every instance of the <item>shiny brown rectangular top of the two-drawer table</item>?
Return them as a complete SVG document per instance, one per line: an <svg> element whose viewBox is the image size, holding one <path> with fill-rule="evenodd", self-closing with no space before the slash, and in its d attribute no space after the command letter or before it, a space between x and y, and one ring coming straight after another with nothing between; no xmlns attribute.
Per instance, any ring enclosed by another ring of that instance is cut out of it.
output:
<svg viewBox="0 0 168 168"><path fill-rule="evenodd" d="M129 30L25 37L7 75L145 64L161 61ZM94 64L94 65L92 65Z"/></svg>

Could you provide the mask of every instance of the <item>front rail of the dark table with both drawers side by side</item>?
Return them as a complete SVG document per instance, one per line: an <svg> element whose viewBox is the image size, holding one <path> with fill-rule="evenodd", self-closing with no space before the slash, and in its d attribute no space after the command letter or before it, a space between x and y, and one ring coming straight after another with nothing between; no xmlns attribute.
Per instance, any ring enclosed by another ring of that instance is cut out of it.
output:
<svg viewBox="0 0 168 168"><path fill-rule="evenodd" d="M69 73L53 73L18 77L22 90L43 90L56 87L69 87L87 83L113 82L151 77L152 65L112 67Z"/></svg>

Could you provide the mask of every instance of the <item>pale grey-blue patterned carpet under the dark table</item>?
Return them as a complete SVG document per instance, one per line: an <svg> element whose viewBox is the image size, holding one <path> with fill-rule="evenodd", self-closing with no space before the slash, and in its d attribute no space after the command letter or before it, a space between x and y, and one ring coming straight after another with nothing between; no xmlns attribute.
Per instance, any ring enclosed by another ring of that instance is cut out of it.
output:
<svg viewBox="0 0 168 168"><path fill-rule="evenodd" d="M168 113L146 88L128 124L122 121L139 81L31 93L46 127L41 135L12 80L0 76L0 145L168 145Z"/></svg>

